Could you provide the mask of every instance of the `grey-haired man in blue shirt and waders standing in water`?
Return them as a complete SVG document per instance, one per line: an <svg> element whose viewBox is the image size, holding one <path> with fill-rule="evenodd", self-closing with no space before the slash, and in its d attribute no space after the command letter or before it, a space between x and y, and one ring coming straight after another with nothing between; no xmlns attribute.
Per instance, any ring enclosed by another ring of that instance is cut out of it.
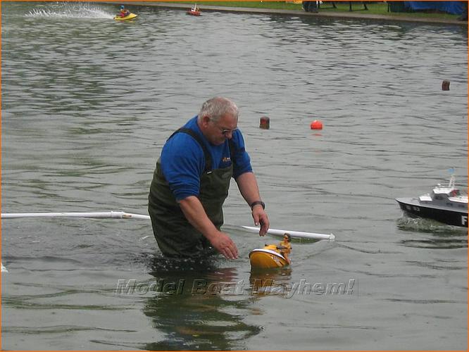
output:
<svg viewBox="0 0 469 352"><path fill-rule="evenodd" d="M165 256L200 257L216 251L235 259L235 242L220 231L223 203L234 177L251 207L259 235L269 228L235 103L214 97L165 142L149 191L149 215Z"/></svg>

